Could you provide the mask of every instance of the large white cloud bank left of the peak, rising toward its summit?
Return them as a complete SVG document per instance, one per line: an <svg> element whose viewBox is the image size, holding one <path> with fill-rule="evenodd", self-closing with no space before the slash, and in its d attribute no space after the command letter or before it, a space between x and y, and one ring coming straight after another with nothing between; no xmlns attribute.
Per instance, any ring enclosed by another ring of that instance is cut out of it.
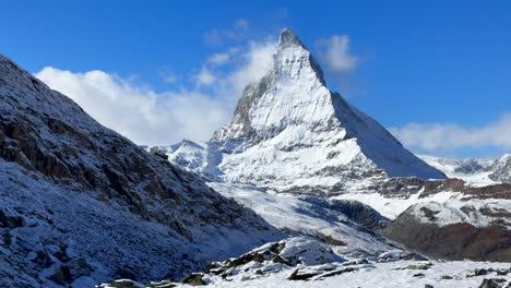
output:
<svg viewBox="0 0 511 288"><path fill-rule="evenodd" d="M138 144L169 145L190 139L207 140L231 117L246 84L261 79L272 67L275 43L251 43L228 49L234 70L203 67L202 85L194 89L157 93L132 79L104 71L75 73L47 67L35 76L68 95L102 124Z"/></svg>

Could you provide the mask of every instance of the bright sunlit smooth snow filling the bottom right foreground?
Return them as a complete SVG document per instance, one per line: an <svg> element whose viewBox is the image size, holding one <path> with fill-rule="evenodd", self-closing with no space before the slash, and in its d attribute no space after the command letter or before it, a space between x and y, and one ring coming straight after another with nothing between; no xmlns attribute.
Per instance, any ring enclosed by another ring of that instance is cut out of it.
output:
<svg viewBox="0 0 511 288"><path fill-rule="evenodd" d="M426 267L427 269L417 267ZM414 267L415 266L415 267ZM268 277L261 277L253 280L242 280L242 276L234 278L231 281L213 278L211 287L425 287L431 285L435 288L453 287L479 287L485 278L504 279L502 287L511 283L511 275L497 275L496 272L488 275L467 277L474 275L476 269L508 269L510 264L503 263L480 263L471 261L460 262L416 262L397 261L391 263L363 264L355 265L359 268L355 272L343 273L341 275L320 278L317 280L288 280L293 271L284 271ZM408 268L412 267L412 268ZM424 275L424 276L423 276ZM178 287L188 287L180 285Z"/></svg>

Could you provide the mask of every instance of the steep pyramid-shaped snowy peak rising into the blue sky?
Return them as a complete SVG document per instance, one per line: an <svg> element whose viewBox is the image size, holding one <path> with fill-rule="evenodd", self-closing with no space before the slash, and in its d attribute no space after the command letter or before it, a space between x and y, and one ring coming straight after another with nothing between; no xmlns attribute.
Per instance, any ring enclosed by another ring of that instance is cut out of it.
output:
<svg viewBox="0 0 511 288"><path fill-rule="evenodd" d="M331 92L310 51L282 32L273 69L249 84L205 149L222 179L280 192L342 192L388 177L445 178L377 121ZM170 158L188 158L179 145ZM177 153L177 154L176 154ZM194 155L198 155L194 153ZM193 160L197 163L197 159ZM199 167L211 168L211 161ZM197 170L197 169L195 169Z"/></svg>

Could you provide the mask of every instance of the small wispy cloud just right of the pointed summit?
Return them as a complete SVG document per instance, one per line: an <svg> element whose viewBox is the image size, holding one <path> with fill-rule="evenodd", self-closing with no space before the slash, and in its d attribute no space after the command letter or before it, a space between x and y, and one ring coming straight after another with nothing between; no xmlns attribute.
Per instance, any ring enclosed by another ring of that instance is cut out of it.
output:
<svg viewBox="0 0 511 288"><path fill-rule="evenodd" d="M316 43L321 59L333 72L352 71L357 65L357 57L349 52L349 36L333 35Z"/></svg>

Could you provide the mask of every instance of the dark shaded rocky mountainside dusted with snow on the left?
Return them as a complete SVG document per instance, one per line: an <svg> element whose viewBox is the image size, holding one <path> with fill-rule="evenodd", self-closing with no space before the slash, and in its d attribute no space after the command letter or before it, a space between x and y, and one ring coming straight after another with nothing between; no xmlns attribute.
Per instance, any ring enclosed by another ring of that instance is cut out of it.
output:
<svg viewBox="0 0 511 288"><path fill-rule="evenodd" d="M180 277L283 233L0 56L0 286Z"/></svg>

